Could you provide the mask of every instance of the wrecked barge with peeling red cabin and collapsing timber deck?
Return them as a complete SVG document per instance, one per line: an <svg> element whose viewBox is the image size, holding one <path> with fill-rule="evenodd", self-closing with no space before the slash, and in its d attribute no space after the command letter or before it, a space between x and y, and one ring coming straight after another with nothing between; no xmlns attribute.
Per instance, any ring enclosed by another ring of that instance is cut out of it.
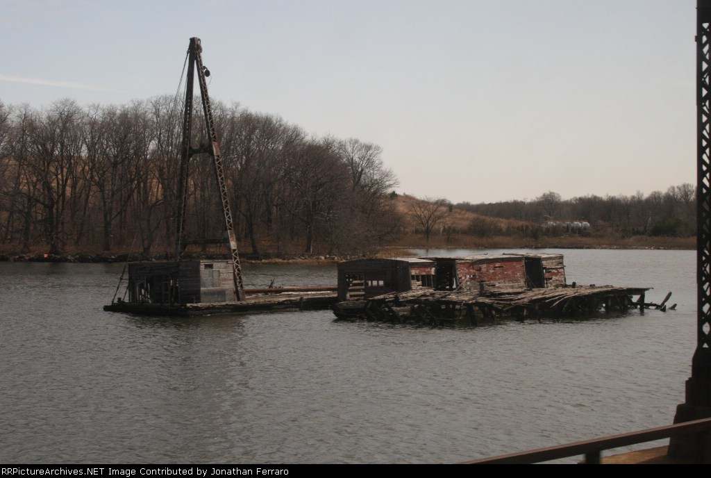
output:
<svg viewBox="0 0 711 478"><path fill-rule="evenodd" d="M338 265L338 319L442 324L499 317L570 317L604 309L625 312L649 287L567 285L560 254L503 254L343 262Z"/></svg>

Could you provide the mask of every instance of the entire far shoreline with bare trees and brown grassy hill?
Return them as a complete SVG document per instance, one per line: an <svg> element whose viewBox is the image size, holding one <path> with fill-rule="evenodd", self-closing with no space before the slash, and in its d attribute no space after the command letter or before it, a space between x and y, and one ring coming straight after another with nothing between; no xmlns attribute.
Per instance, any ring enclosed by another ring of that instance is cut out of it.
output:
<svg viewBox="0 0 711 478"><path fill-rule="evenodd" d="M239 105L213 101L213 111L245 260L370 257L393 247L695 248L693 184L646 196L564 200L548 191L530 201L453 204L397 193L377 144L314 137ZM0 101L0 254L172 257L183 196L179 113L171 97L92 107L59 100L42 110ZM214 178L210 158L196 154L183 230L192 257L221 252L213 247L224 221Z"/></svg>

